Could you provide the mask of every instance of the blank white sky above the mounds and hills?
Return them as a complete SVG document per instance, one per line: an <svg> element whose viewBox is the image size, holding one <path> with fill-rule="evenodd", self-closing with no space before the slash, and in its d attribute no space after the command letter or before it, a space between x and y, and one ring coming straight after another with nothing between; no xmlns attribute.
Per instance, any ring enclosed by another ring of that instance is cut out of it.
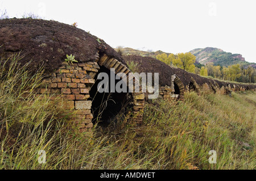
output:
<svg viewBox="0 0 256 181"><path fill-rule="evenodd" d="M255 0L1 0L10 18L34 12L117 46L164 52L216 47L256 62Z"/></svg>

